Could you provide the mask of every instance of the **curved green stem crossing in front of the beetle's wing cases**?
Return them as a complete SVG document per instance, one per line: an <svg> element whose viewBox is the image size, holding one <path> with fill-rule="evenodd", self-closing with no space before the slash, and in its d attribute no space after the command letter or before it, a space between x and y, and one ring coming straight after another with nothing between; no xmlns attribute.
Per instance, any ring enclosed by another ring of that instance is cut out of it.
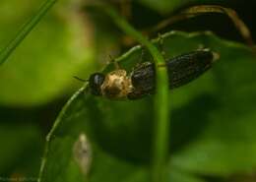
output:
<svg viewBox="0 0 256 182"><path fill-rule="evenodd" d="M155 98L156 137L154 141L152 178L154 182L161 182L163 181L164 166L168 152L169 135L168 78L166 69L164 67L158 67L159 64L164 63L164 59L158 48L151 41L129 25L111 7L105 7L104 10L121 30L136 38L141 44L145 45L157 63L157 94Z"/></svg>

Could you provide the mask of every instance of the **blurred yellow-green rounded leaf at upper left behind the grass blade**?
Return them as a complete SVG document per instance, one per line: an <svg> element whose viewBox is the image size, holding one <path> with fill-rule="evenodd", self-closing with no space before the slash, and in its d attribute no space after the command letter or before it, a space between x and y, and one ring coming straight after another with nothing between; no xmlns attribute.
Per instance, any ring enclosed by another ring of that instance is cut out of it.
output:
<svg viewBox="0 0 256 182"><path fill-rule="evenodd" d="M33 1L27 0L24 5ZM22 46L0 68L1 105L32 106L47 103L74 91L73 76L87 75L91 69L93 47L87 22L65 1L58 4ZM35 6L18 6L21 2L1 1L0 47L31 16ZM10 11L10 9L19 9ZM14 14L10 13L14 12ZM80 74L82 73L82 74Z"/></svg>

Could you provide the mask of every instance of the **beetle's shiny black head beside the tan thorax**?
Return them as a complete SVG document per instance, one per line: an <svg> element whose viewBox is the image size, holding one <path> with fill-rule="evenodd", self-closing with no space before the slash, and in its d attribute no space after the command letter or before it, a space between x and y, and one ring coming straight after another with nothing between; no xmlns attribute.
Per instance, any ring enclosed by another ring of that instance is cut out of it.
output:
<svg viewBox="0 0 256 182"><path fill-rule="evenodd" d="M101 95L100 87L103 84L105 76L101 73L95 73L90 76L89 86L92 90L92 93L95 95Z"/></svg>

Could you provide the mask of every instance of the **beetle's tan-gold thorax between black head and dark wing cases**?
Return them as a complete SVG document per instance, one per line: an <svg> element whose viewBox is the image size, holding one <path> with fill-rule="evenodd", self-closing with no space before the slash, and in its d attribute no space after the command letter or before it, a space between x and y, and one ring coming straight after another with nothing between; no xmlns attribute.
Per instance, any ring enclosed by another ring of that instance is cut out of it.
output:
<svg viewBox="0 0 256 182"><path fill-rule="evenodd" d="M108 98L125 98L132 91L131 79L125 70L115 70L105 76L100 89L102 95Z"/></svg>

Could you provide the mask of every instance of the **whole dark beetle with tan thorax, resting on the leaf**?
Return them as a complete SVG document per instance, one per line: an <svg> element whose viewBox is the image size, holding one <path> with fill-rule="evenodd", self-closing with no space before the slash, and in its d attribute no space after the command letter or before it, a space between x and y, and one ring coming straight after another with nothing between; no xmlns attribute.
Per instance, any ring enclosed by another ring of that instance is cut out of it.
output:
<svg viewBox="0 0 256 182"><path fill-rule="evenodd" d="M166 60L164 66L167 68L169 89L178 88L198 78L211 68L216 59L217 53L203 49ZM136 66L129 75L123 69L105 76L96 73L90 77L89 85L95 95L111 99L138 99L156 91L155 68L155 63L144 62Z"/></svg>

